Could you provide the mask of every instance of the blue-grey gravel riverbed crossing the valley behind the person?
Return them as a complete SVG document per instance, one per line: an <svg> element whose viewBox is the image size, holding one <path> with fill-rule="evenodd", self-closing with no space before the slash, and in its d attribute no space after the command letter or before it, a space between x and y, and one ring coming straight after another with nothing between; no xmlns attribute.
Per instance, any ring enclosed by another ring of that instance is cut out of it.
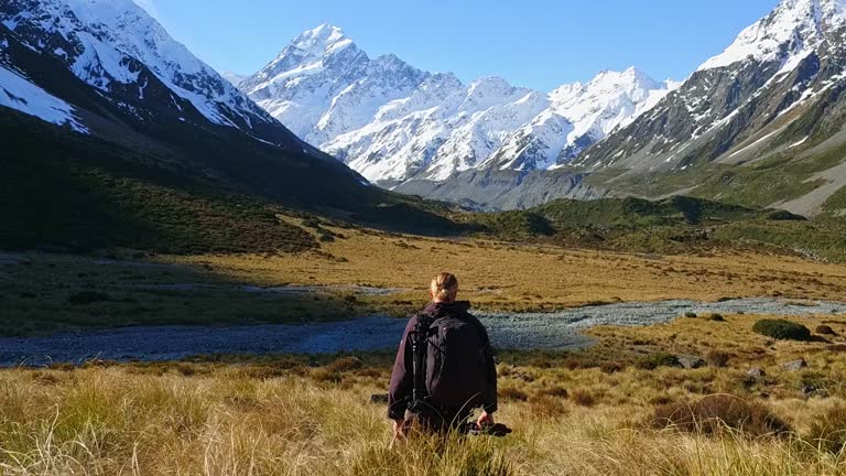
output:
<svg viewBox="0 0 846 476"><path fill-rule="evenodd" d="M581 331L597 325L649 325L686 312L697 314L774 314L805 316L846 313L846 303L796 302L776 298L738 299L718 303L663 301L568 309L554 313L475 314L485 323L496 347L565 349L590 344ZM306 325L232 327L127 327L56 334L47 337L0 338L0 366L44 366L53 363L109 360L174 360L197 354L321 354L379 350L399 344L405 320L383 316Z"/></svg>

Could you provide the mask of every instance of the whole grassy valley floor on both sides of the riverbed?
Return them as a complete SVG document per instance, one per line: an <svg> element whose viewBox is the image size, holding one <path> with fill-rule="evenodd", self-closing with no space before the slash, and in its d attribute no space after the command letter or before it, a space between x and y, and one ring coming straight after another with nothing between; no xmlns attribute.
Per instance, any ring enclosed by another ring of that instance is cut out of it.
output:
<svg viewBox="0 0 846 476"><path fill-rule="evenodd" d="M844 301L846 266L779 255L644 256L355 228L327 227L315 236L323 237L318 250L294 255L2 253L0 334L6 343L86 334L70 337L70 345L105 328L131 327L102 334L113 336L177 324L219 337L227 335L219 326L308 328L376 314L387 316L387 334L402 324L390 316L422 306L429 279L451 270L462 281L462 296L491 327L514 313L530 313L521 314L529 322L531 313L557 312L594 344L498 353L498 418L512 435L423 439L392 450L384 407L368 402L386 391L390 353L215 351L161 363L94 358L3 369L0 470L846 474L846 320L836 303ZM615 312L637 322L601 321ZM803 342L752 332L772 314L820 332ZM651 325L603 325L620 323Z"/></svg>

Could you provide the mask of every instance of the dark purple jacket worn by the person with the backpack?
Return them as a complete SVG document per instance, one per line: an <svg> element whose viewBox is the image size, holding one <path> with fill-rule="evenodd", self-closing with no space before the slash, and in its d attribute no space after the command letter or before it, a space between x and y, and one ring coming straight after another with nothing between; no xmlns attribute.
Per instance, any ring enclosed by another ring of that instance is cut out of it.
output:
<svg viewBox="0 0 846 476"><path fill-rule="evenodd" d="M488 413L497 411L497 368L494 361L494 351L485 326L468 312L469 309L470 303L467 301L457 301L455 303L430 303L422 313L409 320L409 324L405 326L405 332L400 342L400 348L397 350L397 359L393 364L391 387L388 393L388 418L391 420L402 420L405 418L405 410L411 403L412 390L414 388L412 375L414 358L409 333L414 329L421 315L429 316L432 321L442 317L458 318L470 323L478 329L479 340L481 342L481 349L479 350L482 353L485 360L485 368L480 369L480 371L484 372L484 376L481 376L481 379L478 378L480 376L468 376L468 380L484 382L480 383L482 388L478 389L478 405L482 407ZM433 403L440 404L437 401L433 401ZM446 410L448 411L449 409ZM458 409L453 410L457 411Z"/></svg>

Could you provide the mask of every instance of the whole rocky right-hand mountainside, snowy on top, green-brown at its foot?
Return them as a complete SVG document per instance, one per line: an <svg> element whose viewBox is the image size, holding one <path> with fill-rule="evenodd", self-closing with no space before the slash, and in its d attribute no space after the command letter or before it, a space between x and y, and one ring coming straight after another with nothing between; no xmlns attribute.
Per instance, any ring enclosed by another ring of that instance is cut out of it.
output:
<svg viewBox="0 0 846 476"><path fill-rule="evenodd" d="M617 194L820 213L846 185L844 39L842 0L783 0L574 165Z"/></svg>

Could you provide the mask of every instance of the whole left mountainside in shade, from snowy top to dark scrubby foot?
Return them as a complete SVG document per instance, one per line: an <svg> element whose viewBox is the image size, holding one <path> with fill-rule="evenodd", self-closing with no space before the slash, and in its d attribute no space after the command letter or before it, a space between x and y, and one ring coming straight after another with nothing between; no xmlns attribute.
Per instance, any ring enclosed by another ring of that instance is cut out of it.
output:
<svg viewBox="0 0 846 476"><path fill-rule="evenodd" d="M280 205L449 225L297 139L131 1L0 3L0 246L294 249Z"/></svg>

